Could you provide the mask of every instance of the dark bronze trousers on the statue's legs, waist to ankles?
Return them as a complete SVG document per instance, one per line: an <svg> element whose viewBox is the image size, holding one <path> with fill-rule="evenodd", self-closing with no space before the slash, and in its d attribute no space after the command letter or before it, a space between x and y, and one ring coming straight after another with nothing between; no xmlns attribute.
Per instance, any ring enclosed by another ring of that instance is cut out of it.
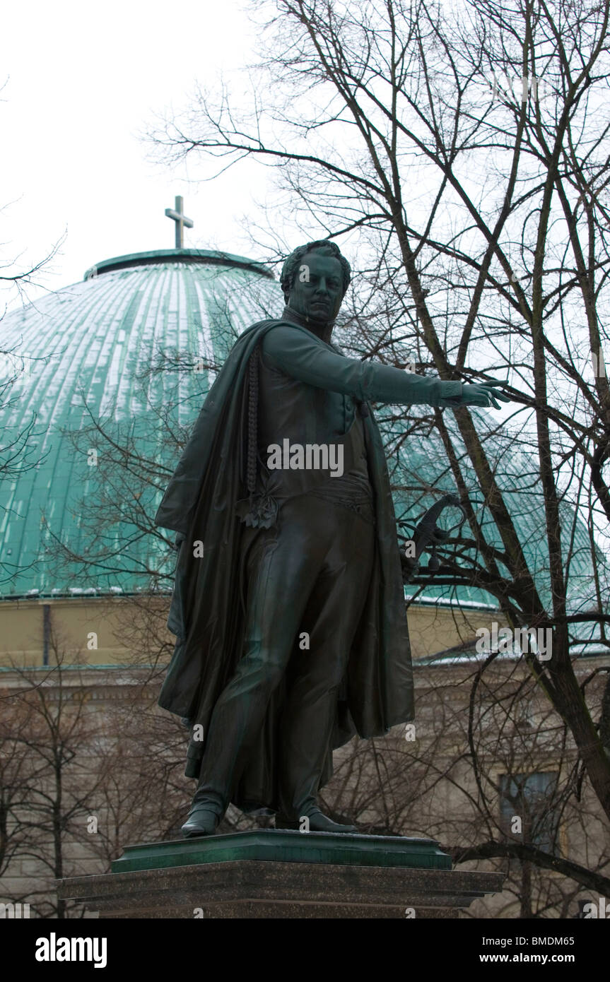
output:
<svg viewBox="0 0 610 982"><path fill-rule="evenodd" d="M274 762L279 809L294 819L317 807L372 570L372 507L363 513L301 495L283 503L276 527L244 528L244 654L211 716L194 806L204 802L224 814L284 680Z"/></svg>

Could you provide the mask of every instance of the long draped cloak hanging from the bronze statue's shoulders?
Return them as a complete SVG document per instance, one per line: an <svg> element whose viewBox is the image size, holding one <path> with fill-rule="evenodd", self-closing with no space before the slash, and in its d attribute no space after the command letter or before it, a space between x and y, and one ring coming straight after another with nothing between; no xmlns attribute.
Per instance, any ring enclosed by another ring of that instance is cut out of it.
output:
<svg viewBox="0 0 610 982"><path fill-rule="evenodd" d="M250 355L281 320L246 330L219 371L167 486L155 524L184 535L168 627L176 646L159 705L207 732L214 705L243 651L244 601L236 502L244 499ZM306 329L290 323L292 330ZM336 351L336 349L335 349ZM414 718L414 686L394 504L381 436L372 412L362 418L375 506L375 556L360 627L339 693L332 747L355 734L382 736ZM203 555L200 556L203 544ZM274 806L275 730L282 691L274 695L233 801ZM204 740L192 739L186 774L198 777ZM329 752L320 781L332 774ZM255 800L254 800L255 799Z"/></svg>

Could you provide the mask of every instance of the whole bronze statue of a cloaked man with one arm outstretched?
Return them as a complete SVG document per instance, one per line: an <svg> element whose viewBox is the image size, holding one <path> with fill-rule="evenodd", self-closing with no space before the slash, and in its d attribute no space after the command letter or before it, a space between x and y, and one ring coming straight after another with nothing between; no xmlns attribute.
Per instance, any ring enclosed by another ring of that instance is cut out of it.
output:
<svg viewBox="0 0 610 982"><path fill-rule="evenodd" d="M281 318L233 347L155 518L179 533L177 641L159 704L191 728L186 836L212 834L231 801L275 813L276 828L356 831L317 805L333 748L414 718L394 508L368 403L509 401L498 382L338 352L350 278L331 242L288 257Z"/></svg>

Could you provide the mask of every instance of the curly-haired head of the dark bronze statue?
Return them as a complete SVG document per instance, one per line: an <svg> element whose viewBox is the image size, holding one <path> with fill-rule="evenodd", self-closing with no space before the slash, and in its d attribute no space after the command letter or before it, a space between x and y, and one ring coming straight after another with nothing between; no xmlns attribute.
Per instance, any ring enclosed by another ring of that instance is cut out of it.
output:
<svg viewBox="0 0 610 982"><path fill-rule="evenodd" d="M339 246L322 239L291 252L282 267L280 285L288 306L311 320L327 323L339 313L351 274Z"/></svg>

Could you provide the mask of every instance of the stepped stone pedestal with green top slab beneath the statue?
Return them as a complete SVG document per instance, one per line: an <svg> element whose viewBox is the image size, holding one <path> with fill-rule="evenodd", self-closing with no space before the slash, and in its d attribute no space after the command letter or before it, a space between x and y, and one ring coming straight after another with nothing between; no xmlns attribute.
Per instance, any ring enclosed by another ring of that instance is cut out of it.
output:
<svg viewBox="0 0 610 982"><path fill-rule="evenodd" d="M264 829L127 846L58 893L102 918L455 918L503 879L453 870L431 839Z"/></svg>

